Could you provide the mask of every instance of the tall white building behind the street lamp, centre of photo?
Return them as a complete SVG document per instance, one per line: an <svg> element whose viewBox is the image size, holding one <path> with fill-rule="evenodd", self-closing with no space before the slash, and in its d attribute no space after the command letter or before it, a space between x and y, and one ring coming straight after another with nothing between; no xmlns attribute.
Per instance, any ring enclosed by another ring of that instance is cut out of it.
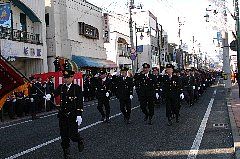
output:
<svg viewBox="0 0 240 159"><path fill-rule="evenodd" d="M159 49L161 42L160 29L157 17L150 11L141 9L133 10L133 21L135 22L135 45L143 45L143 51L138 52L137 68L147 62L151 67L159 67Z"/></svg>

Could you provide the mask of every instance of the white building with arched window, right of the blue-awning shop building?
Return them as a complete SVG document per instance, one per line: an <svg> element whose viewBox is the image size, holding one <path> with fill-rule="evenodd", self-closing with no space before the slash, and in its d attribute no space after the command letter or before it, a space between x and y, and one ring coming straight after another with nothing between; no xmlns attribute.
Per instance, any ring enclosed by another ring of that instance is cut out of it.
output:
<svg viewBox="0 0 240 159"><path fill-rule="evenodd" d="M121 14L109 15L110 41L105 43L107 59L114 61L119 68L131 69L129 17Z"/></svg>

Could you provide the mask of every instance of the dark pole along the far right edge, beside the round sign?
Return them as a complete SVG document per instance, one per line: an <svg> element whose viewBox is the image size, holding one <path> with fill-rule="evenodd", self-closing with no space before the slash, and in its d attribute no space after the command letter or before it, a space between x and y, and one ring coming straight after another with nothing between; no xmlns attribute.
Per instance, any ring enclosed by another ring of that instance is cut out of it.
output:
<svg viewBox="0 0 240 159"><path fill-rule="evenodd" d="M236 31L237 31L237 81L240 80L240 28L239 28L239 7L238 7L238 0L235 0L235 13L236 13L236 17L235 17L235 20L236 20ZM239 90L239 93L238 93L238 96L240 98L240 84L238 84L238 90Z"/></svg>

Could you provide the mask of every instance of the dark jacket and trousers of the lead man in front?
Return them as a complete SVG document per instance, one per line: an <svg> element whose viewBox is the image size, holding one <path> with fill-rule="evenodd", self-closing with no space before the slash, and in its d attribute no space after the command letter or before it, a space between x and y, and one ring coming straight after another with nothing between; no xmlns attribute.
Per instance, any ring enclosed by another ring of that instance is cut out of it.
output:
<svg viewBox="0 0 240 159"><path fill-rule="evenodd" d="M60 111L58 113L61 146L63 150L70 146L70 139L80 143L83 138L78 133L77 116L82 116L83 94L80 86L72 84L70 88L61 84L54 91L54 97L60 95Z"/></svg>

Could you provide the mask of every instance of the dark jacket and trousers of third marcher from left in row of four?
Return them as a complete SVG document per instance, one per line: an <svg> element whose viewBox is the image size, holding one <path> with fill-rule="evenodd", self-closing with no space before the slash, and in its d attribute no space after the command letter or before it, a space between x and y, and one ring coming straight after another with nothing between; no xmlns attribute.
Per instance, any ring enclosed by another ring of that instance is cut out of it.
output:
<svg viewBox="0 0 240 159"><path fill-rule="evenodd" d="M156 77L152 74L140 75L139 79L139 99L140 99L140 107L145 116L149 116L152 118L154 115L154 104L153 101L155 99L156 93Z"/></svg>

